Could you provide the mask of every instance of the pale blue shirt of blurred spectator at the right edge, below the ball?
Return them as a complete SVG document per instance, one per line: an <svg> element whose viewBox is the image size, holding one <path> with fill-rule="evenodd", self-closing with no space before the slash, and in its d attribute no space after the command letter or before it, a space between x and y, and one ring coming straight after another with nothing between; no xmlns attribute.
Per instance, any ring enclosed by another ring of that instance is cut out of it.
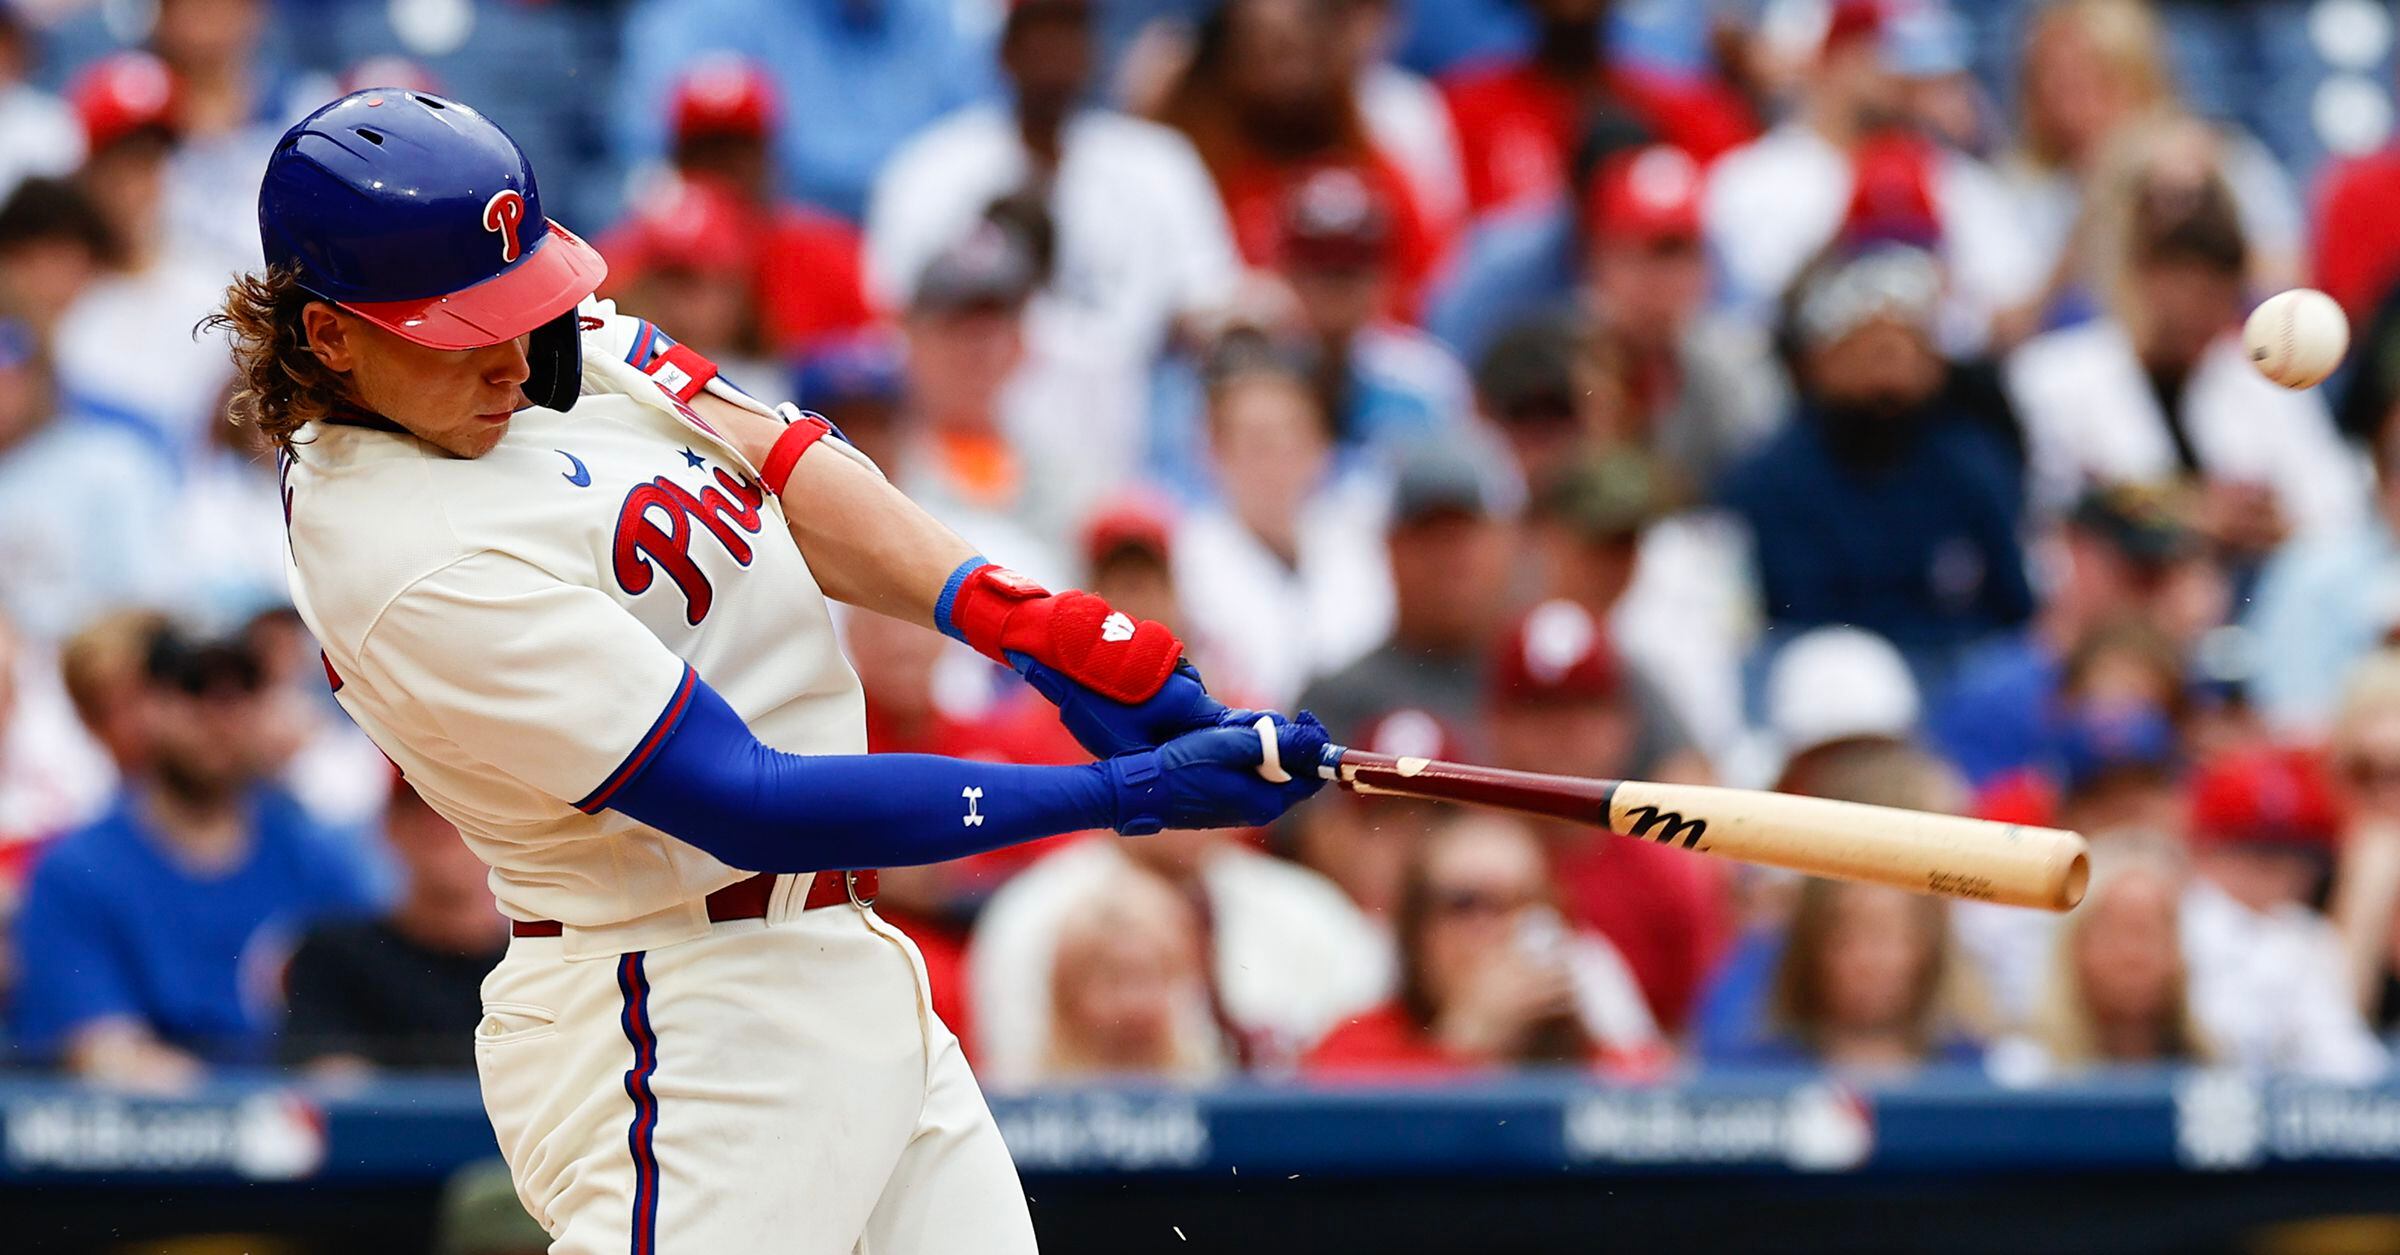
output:
<svg viewBox="0 0 2400 1255"><path fill-rule="evenodd" d="M2275 550L2242 619L2251 641L2246 693L2290 734L2323 729L2352 667L2400 626L2400 422L2383 420L2371 451L2374 511Z"/></svg>

